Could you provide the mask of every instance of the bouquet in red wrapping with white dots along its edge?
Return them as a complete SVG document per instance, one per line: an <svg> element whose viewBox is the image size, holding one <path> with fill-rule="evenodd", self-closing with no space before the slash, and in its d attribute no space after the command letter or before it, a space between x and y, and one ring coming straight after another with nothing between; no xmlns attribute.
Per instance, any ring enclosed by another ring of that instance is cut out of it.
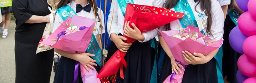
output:
<svg viewBox="0 0 256 83"><path fill-rule="evenodd" d="M171 11L166 8L159 8L154 6L144 6L128 3L125 11L125 21L134 23L137 28L140 29L141 33L146 33L150 30L159 28L160 26L166 25L176 19L182 18L184 13ZM129 25L131 28L131 24ZM133 28L134 29L134 28ZM126 43L133 43L135 39L131 39L124 35L127 40ZM108 77L115 75L120 68L120 76L123 77L123 66L127 67L127 63L124 59L126 53L122 53L117 50L116 53L108 60L99 72L98 78ZM101 79L102 80L102 79Z"/></svg>

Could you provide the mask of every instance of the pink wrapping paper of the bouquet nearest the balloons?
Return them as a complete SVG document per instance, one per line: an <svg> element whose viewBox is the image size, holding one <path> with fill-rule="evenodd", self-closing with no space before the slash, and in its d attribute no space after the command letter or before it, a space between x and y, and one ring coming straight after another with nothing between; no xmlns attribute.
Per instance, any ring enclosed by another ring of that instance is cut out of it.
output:
<svg viewBox="0 0 256 83"><path fill-rule="evenodd" d="M188 26L184 33L188 33L188 30L190 29L190 33L197 32L198 38L197 40L193 40L191 38L187 38L185 40L178 39L176 37L172 37L174 33L177 33L177 30L168 30L168 31L161 31L158 30L161 35L163 36L163 39L168 44L170 50L172 51L173 57L179 61L183 65L189 65L183 58L182 51L187 50L189 53L202 53L204 55L209 54L213 50L218 49L221 47L223 39L215 41L216 43L210 43L208 45L205 45L203 37L204 35L198 30L198 28L194 28L192 26ZM205 37L205 41L210 40L213 42L214 40L210 39L208 36Z"/></svg>

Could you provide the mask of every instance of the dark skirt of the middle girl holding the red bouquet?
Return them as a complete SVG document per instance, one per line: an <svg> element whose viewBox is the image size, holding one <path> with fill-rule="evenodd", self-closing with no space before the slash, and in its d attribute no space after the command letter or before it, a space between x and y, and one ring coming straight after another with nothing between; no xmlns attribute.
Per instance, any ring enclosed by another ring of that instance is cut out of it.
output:
<svg viewBox="0 0 256 83"><path fill-rule="evenodd" d="M106 61L111 58L116 50L118 50L118 48L111 42ZM135 41L127 51L125 61L128 66L126 69L125 66L123 66L124 79L120 77L120 72L118 71L116 83L149 83L154 66L154 48L152 48L148 42L140 43Z"/></svg>

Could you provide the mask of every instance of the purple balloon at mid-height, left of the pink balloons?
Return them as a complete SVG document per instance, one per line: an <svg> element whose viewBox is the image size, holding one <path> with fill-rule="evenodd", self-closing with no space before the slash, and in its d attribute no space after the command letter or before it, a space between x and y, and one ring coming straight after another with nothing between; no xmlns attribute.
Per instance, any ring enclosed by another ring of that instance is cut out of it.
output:
<svg viewBox="0 0 256 83"><path fill-rule="evenodd" d="M230 31L229 34L229 42L230 42L230 46L238 53L244 54L243 52L243 43L244 40L247 38L248 36L244 35L238 28L238 26L236 26L235 28L233 28Z"/></svg>

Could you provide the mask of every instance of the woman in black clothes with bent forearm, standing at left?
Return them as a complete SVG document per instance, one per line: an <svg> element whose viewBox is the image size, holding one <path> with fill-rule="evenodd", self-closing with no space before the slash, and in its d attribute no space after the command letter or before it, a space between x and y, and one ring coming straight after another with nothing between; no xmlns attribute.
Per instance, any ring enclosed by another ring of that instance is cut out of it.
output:
<svg viewBox="0 0 256 83"><path fill-rule="evenodd" d="M54 50L36 53L51 13L47 0L13 0L16 83L49 83Z"/></svg>

